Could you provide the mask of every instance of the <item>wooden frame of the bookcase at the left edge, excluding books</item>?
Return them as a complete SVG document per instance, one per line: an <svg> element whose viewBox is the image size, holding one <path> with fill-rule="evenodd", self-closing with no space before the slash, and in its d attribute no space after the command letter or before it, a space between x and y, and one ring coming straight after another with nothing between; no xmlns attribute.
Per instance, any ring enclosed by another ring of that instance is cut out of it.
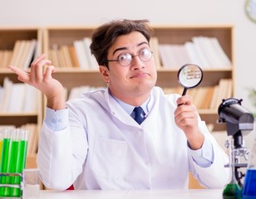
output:
<svg viewBox="0 0 256 199"><path fill-rule="evenodd" d="M0 28L0 50L13 51L16 41L37 40L37 53L42 53L42 29L39 27L1 27ZM22 52L23 53L23 52ZM17 75L7 68L0 68L0 85L3 85L3 80L8 78L13 84L22 83L17 80ZM19 99L17 99L19 100ZM39 134L42 126L42 95L38 91L37 110L35 112L1 112L0 111L0 125L15 126L20 128L25 124L35 124L37 126L37 133ZM36 154L27 155L27 167L37 167Z"/></svg>

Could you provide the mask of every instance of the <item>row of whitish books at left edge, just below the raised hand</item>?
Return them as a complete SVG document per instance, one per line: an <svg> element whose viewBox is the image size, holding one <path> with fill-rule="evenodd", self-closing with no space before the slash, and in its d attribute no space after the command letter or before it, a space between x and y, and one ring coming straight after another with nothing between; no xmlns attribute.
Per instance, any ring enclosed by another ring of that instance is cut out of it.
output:
<svg viewBox="0 0 256 199"><path fill-rule="evenodd" d="M1 113L36 113L37 90L32 85L13 83L7 77L0 86Z"/></svg>

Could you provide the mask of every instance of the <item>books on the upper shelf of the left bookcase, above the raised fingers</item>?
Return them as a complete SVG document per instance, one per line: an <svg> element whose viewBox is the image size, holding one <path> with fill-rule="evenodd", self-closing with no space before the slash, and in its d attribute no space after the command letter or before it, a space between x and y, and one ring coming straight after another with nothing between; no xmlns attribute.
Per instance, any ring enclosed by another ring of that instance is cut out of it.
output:
<svg viewBox="0 0 256 199"><path fill-rule="evenodd" d="M13 50L0 51L0 68L12 65L26 70L37 53L37 40L17 40Z"/></svg>

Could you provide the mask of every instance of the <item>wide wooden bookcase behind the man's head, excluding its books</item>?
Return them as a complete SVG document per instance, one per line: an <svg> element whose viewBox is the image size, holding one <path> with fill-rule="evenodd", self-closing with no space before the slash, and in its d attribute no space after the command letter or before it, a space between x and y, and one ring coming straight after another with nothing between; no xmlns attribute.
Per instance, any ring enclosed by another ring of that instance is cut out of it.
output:
<svg viewBox="0 0 256 199"><path fill-rule="evenodd" d="M152 26L155 31L155 36L158 40L158 47L163 44L184 45L185 42L191 41L195 36L214 37L219 41L225 55L229 58L231 66L229 67L214 67L201 66L204 71L204 78L199 87L205 88L208 86L219 85L219 80L229 79L232 88L229 90L229 97L234 95L234 27L231 25L202 25L202 26ZM43 51L50 56L50 49L53 46L71 46L76 40L82 40L84 37L90 37L91 32L95 27L46 27L44 30ZM155 45L154 45L155 46ZM151 45L154 51L154 47ZM159 49L155 49L159 51ZM159 53L153 53L158 54ZM51 58L51 56L50 56ZM160 59L156 57L155 60ZM158 80L156 85L162 88L180 88L177 79L177 71L180 66L163 67L162 62L156 61L158 70ZM70 92L72 87L80 85L90 86L106 86L101 80L101 75L96 68L79 68L79 67L62 67L57 66L57 72L54 74L57 80L60 80ZM197 88L196 88L197 89ZM221 89L221 88L220 88ZM219 90L220 90L219 89ZM180 88L182 90L182 88ZM193 89L194 90L194 89ZM192 90L191 90L192 91ZM197 92L195 92L197 93ZM181 92L180 92L181 94ZM205 98L205 94L201 98ZM212 124L213 130L224 130L224 124L216 124L218 116L218 104L221 104L223 98L214 99L214 108L199 109L199 114L206 124ZM204 103L204 100L201 102ZM216 105L217 104L217 105Z"/></svg>

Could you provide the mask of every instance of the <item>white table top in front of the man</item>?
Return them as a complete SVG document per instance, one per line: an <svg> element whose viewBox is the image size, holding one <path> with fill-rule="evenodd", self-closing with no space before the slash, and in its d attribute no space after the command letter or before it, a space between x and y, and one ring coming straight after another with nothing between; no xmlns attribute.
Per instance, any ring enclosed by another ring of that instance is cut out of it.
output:
<svg viewBox="0 0 256 199"><path fill-rule="evenodd" d="M41 191L40 199L222 199L221 189L189 189L189 190L76 190L76 191Z"/></svg>

